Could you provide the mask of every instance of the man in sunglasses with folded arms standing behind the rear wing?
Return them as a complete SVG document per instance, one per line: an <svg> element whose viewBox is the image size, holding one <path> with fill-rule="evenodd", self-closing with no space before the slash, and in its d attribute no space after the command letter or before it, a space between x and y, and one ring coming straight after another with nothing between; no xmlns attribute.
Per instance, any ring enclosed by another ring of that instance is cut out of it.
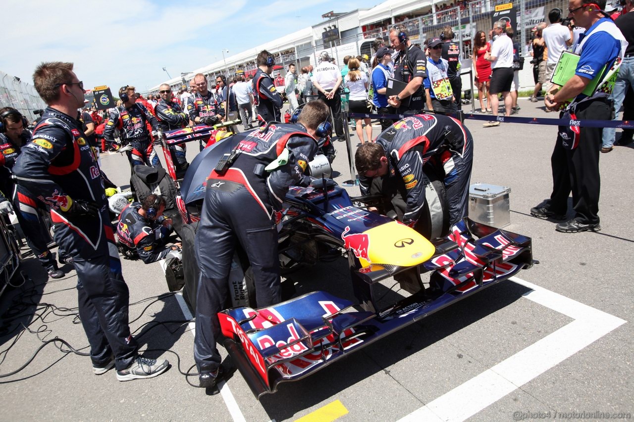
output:
<svg viewBox="0 0 634 422"><path fill-rule="evenodd" d="M172 88L168 84L162 84L159 87L159 94L159 103L154 107L154 113L159 120L160 129L165 132L185 127L190 122L190 117L187 113L183 112L179 103L174 99ZM170 145L168 148L176 171L187 169L189 163L185 157L187 153L186 145Z"/></svg>

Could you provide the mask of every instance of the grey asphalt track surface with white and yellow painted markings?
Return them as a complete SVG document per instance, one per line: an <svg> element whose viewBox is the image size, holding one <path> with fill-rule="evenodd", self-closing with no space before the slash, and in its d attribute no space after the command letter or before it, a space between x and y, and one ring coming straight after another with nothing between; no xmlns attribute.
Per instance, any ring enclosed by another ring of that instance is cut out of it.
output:
<svg viewBox="0 0 634 422"><path fill-rule="evenodd" d="M544 115L540 103L527 99L519 103L520 116ZM190 326L168 323L148 331L153 321L182 321L182 298L131 305L131 321L138 317L131 328L141 350L153 350L146 352L150 357L169 359L172 368L167 373L122 383L114 371L95 376L89 358L65 354L49 344L23 371L0 378L0 420L631 418L634 149L619 146L600 157L602 231L563 234L555 231L555 222L529 215L531 207L550 195L556 127L483 128L474 120L466 125L475 138L472 182L510 187L512 224L506 229L533 238L534 258L540 264L520 272L520 280L505 281L451 305L304 380L283 383L277 393L259 402L239 372L213 395L186 383L174 354L157 351L178 354L183 371L194 363ZM351 140L356 148L356 136ZM343 182L350 178L345 143L335 144L334 169L339 173L334 178ZM197 150L190 144L190 160ZM101 160L115 183L129 184L125 157L110 154ZM357 188L350 191L358 193ZM129 260L122 264L131 303L167 292L159 264ZM46 284L46 273L32 257L23 261L23 269L30 281L3 295L4 317L11 300L20 298L60 308L77 306L72 267L65 267L65 278ZM294 274L285 283L289 282L298 293L328 290L351 295L343 258ZM45 324L39 334L44 340L63 338L86 351L86 337L72 312L58 310L42 321L34 316L34 311L42 310L30 307L20 313L20 321L30 323L34 331ZM0 350L5 350L15 340L15 332L2 335ZM0 355L0 373L22 366L39 345L37 335L24 333L8 354ZM224 349L221 354L226 355ZM197 378L190 381L197 383Z"/></svg>

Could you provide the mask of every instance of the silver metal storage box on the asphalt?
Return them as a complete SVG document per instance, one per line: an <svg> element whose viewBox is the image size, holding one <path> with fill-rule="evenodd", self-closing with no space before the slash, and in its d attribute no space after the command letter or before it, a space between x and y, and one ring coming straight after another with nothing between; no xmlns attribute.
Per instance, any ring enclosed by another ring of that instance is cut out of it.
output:
<svg viewBox="0 0 634 422"><path fill-rule="evenodd" d="M508 226L511 224L510 191L506 186L472 184L469 186L469 218L498 229Z"/></svg>

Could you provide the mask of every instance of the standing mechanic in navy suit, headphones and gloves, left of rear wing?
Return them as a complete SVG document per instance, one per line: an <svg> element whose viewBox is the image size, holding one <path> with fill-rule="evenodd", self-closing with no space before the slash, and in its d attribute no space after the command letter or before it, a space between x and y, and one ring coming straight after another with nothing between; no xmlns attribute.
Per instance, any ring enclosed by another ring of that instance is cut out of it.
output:
<svg viewBox="0 0 634 422"><path fill-rule="evenodd" d="M159 156L154 150L152 136L146 127L146 122L153 130L159 128L156 117L141 103L135 102L133 86L123 86L119 89L122 105L112 109L108 124L103 131L106 141L115 141L115 127L121 132L121 142L124 145L119 152L126 152L130 167L135 165L151 165L161 167Z"/></svg>

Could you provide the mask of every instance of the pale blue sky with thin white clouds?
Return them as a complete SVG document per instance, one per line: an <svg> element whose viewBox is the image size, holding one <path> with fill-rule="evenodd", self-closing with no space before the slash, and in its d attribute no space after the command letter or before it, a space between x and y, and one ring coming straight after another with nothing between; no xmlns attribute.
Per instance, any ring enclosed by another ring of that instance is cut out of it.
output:
<svg viewBox="0 0 634 422"><path fill-rule="evenodd" d="M370 8L381 0L365 4ZM3 0L0 70L32 83L41 61L72 61L86 88L167 79L322 22L344 0ZM9 47L11 46L11 47ZM13 47L15 46L15 47Z"/></svg>

